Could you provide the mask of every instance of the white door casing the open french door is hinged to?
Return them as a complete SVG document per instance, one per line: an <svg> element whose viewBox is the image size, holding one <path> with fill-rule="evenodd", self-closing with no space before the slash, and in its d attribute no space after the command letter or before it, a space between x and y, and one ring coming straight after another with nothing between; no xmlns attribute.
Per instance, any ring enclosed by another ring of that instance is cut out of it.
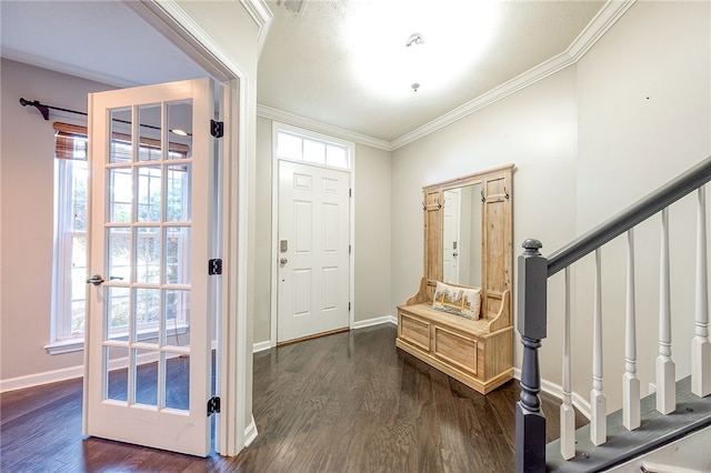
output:
<svg viewBox="0 0 711 473"><path fill-rule="evenodd" d="M253 97L256 102L256 84L249 73L183 11L177 0L124 0L124 4L220 82L220 113L226 123L220 158L223 172L221 258L226 271L221 276L221 298L218 302L218 312L223 315L219 319L217 340L218 392L222 402L214 445L218 453L233 456L257 436L251 407L252 343L248 331L248 168L249 150L253 142L249 134L253 130L249 129L248 112L250 98ZM259 42L263 43L272 19L271 11L263 0L241 0L240 4L254 20L259 28ZM86 425L83 427L86 431Z"/></svg>

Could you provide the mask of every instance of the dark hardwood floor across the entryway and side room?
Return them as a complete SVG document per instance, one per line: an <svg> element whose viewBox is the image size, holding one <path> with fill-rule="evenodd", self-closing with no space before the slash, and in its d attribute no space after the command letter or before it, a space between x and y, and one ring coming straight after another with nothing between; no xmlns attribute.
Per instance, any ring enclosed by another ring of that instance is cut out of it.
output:
<svg viewBox="0 0 711 473"><path fill-rule="evenodd" d="M481 395L397 350L394 338L384 324L257 353L259 436L234 457L82 437L81 380L4 393L0 471L512 471L518 381ZM542 399L551 441L560 402Z"/></svg>

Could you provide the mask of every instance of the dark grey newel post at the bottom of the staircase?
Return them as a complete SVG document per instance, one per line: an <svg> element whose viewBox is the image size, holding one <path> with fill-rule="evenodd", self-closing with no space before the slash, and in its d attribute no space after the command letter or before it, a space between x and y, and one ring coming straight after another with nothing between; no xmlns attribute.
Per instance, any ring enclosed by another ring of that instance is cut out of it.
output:
<svg viewBox="0 0 711 473"><path fill-rule="evenodd" d="M538 240L523 242L519 256L518 328L523 344L521 399L515 405L515 471L545 471L545 416L541 411L538 349L545 338L548 259Z"/></svg>

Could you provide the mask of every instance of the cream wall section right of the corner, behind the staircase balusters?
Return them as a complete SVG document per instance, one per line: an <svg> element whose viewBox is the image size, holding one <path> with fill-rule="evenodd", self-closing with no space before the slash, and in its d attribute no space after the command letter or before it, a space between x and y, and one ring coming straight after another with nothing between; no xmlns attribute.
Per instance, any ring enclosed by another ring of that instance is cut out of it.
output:
<svg viewBox="0 0 711 473"><path fill-rule="evenodd" d="M578 66L577 233L599 224L711 154L711 8L709 2L637 2ZM670 209L672 359L690 373L693 338L695 194ZM658 354L661 218L635 229L638 356L642 393L654 382ZM604 379L618 386L624 370L627 236L602 251ZM575 340L589 346L592 261L573 271ZM585 321L585 322L583 322ZM573 359L588 373L590 351ZM609 383L609 384L608 384ZM589 378L574 380L587 393ZM619 405L619 390L608 392Z"/></svg>

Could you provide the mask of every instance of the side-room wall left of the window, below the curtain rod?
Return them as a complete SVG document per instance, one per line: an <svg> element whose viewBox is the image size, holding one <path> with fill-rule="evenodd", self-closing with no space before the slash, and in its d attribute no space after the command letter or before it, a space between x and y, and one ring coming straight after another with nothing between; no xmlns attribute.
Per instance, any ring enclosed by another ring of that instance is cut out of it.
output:
<svg viewBox="0 0 711 473"><path fill-rule="evenodd" d="M44 121L20 98L87 111L87 94L110 85L2 59L2 305L0 379L83 364L82 352L49 355L54 214L53 121L86 125L86 117L51 111ZM73 372L72 372L73 373Z"/></svg>

